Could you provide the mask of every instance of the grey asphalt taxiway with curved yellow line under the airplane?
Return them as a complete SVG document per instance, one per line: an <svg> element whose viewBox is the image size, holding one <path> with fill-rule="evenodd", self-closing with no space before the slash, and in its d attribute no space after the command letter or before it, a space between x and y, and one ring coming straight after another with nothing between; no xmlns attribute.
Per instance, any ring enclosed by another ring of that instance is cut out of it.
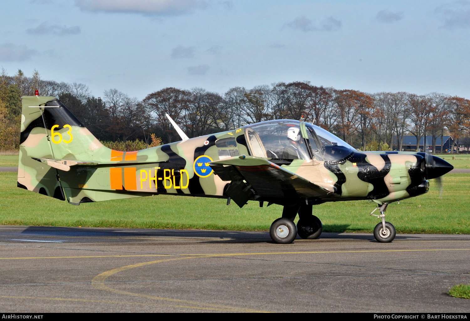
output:
<svg viewBox="0 0 470 321"><path fill-rule="evenodd" d="M0 311L469 312L470 235L0 226Z"/></svg>

